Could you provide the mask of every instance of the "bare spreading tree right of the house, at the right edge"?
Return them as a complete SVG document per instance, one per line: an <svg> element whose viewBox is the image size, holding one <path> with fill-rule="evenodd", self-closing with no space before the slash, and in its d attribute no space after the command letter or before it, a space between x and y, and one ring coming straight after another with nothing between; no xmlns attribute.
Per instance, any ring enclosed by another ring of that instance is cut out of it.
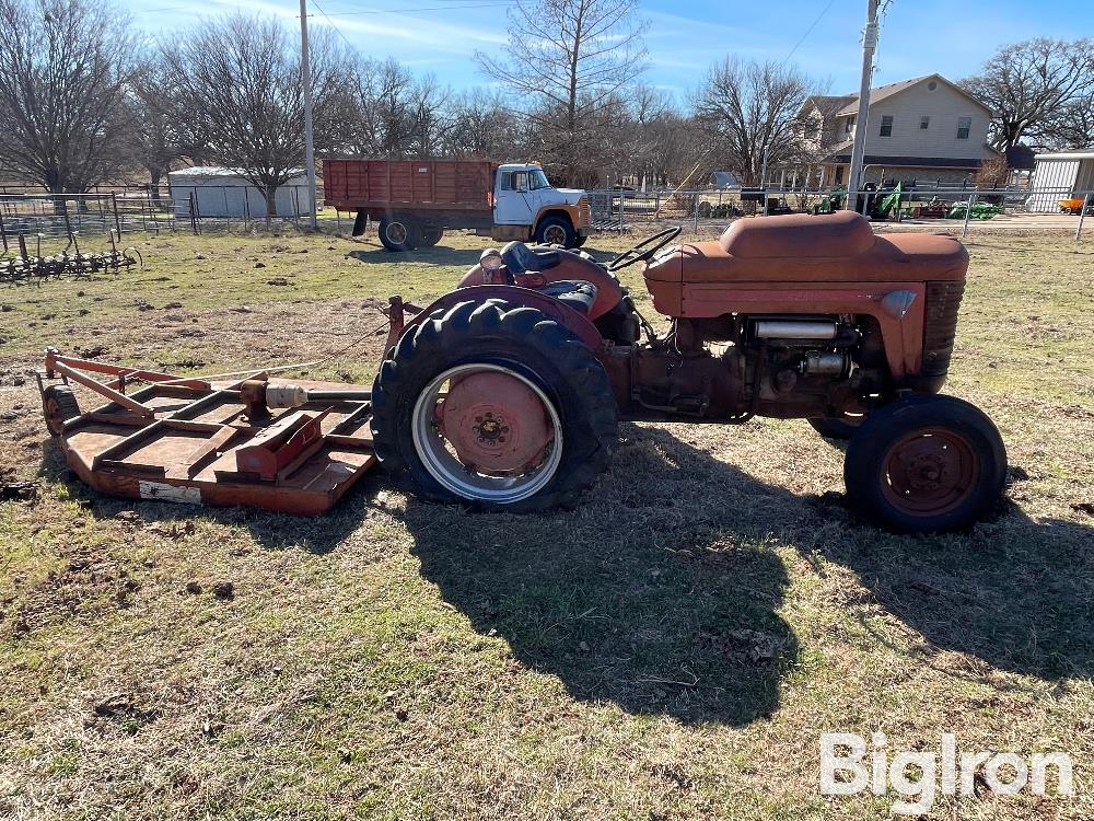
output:
<svg viewBox="0 0 1094 821"><path fill-rule="evenodd" d="M1038 37L1003 46L961 86L996 113L991 144L1005 152L1023 138L1051 142L1059 113L1094 84L1094 41Z"/></svg>

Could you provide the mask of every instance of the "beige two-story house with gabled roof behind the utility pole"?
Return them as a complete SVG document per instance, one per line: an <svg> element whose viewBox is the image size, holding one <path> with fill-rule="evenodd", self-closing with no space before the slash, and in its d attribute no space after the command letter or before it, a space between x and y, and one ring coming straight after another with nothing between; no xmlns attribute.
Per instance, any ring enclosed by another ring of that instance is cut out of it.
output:
<svg viewBox="0 0 1094 821"><path fill-rule="evenodd" d="M928 74L870 90L862 182L962 182L982 160L991 109L946 80ZM860 127L859 95L814 96L801 113L806 151L822 186L846 185L851 144Z"/></svg>

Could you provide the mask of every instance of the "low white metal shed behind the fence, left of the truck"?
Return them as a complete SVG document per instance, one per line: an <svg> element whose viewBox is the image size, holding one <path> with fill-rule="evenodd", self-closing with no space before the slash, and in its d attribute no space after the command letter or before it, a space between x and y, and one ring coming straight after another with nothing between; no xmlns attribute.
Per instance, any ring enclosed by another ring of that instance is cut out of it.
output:
<svg viewBox="0 0 1094 821"><path fill-rule="evenodd" d="M175 216L183 219L189 218L191 207L197 208L200 217L260 219L266 216L263 192L232 169L195 165L172 171L167 174L167 185ZM311 212L304 172L293 172L277 189L277 213L279 217L305 217Z"/></svg>

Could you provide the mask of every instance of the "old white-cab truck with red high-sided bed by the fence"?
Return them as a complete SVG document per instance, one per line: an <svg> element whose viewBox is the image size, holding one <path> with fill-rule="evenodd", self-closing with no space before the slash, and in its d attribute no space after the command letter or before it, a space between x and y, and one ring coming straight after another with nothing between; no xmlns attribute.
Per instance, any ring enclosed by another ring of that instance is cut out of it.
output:
<svg viewBox="0 0 1094 821"><path fill-rule="evenodd" d="M327 205L357 215L354 236L377 222L388 251L435 245L449 229L574 248L592 227L585 193L554 187L534 162L326 160L323 188Z"/></svg>

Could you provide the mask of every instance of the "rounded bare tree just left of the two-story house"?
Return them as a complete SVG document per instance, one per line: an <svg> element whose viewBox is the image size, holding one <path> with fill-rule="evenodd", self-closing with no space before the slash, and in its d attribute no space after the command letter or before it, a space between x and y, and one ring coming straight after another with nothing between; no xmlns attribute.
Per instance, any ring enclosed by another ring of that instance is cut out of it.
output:
<svg viewBox="0 0 1094 821"><path fill-rule="evenodd" d="M816 93L813 81L792 67L726 57L694 97L696 120L725 169L757 185L765 159L768 167L801 160L799 117Z"/></svg>

